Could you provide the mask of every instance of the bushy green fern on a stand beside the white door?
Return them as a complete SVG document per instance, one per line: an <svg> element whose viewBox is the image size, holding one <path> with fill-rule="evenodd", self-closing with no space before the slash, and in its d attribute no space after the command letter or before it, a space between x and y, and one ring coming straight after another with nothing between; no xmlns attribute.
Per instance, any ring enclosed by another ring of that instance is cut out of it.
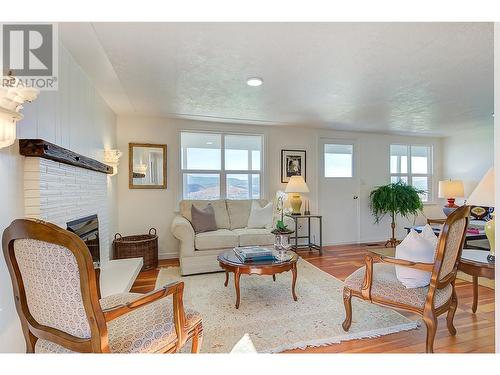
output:
<svg viewBox="0 0 500 375"><path fill-rule="evenodd" d="M397 215L408 218L422 212L424 206L420 194L423 193L423 190L402 181L380 186L370 193L370 209L375 223L379 223L385 215L391 216L392 237L385 243L386 247L395 247L400 242L395 235Z"/></svg>

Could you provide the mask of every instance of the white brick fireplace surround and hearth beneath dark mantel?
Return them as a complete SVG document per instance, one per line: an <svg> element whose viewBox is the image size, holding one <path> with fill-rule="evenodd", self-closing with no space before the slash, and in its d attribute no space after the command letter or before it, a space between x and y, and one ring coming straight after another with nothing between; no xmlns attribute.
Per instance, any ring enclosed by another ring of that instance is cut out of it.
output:
<svg viewBox="0 0 500 375"><path fill-rule="evenodd" d="M103 297L128 292L142 258L111 259L111 177L104 173L28 157L24 162L24 208L28 218L41 219L66 229L66 223L86 216L99 219Z"/></svg>

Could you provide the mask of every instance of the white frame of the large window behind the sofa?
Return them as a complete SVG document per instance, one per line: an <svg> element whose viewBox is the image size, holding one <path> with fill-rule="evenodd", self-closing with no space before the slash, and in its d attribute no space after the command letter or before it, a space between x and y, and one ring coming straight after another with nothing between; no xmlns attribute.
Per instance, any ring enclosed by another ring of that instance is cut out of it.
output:
<svg viewBox="0 0 500 375"><path fill-rule="evenodd" d="M182 133L192 133L192 134L211 134L211 135L218 135L221 138L221 145L220 145L220 151L221 151L221 156L220 156L220 165L221 168L219 169L184 169L183 166L183 160L186 160L187 155L183 155L183 151L185 152L185 149L183 150L182 147ZM248 170L226 170L226 136L249 136L249 137L260 137L261 139L261 149L260 149L260 169L259 170L253 170L252 168L252 151L255 150L247 150L248 151ZM237 199L237 198L227 198L227 175L247 175L248 176L248 198L244 199L262 199L264 196L264 191L263 191L263 186L264 186L264 150L265 150L265 137L264 134L259 134L259 133L241 133L241 132L225 132L225 131L199 131L199 130L181 130L179 131L179 164L180 164L180 198L181 199L193 199L193 198L187 198L184 196L184 176L186 174L216 174L219 175L219 198L217 199ZM254 198L253 197L253 183L252 183L252 176L253 175L259 175L259 197ZM241 200L244 200L241 199ZM200 199L202 200L202 199ZM216 199L206 199L206 200L216 200ZM239 199L238 199L239 200Z"/></svg>

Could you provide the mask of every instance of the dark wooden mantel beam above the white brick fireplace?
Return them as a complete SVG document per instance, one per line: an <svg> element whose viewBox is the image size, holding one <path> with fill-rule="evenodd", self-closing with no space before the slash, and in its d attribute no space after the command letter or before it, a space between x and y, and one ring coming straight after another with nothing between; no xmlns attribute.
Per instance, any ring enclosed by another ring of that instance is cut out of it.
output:
<svg viewBox="0 0 500 375"><path fill-rule="evenodd" d="M42 139L20 139L19 152L23 156L54 160L59 163L74 165L91 171L113 174L113 167L95 159L77 154L61 146Z"/></svg>

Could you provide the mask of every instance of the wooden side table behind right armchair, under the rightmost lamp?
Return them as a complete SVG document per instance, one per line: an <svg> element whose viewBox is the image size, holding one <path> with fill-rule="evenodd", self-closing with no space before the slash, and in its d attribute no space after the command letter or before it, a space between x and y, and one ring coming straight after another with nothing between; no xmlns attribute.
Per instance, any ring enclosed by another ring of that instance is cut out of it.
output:
<svg viewBox="0 0 500 375"><path fill-rule="evenodd" d="M479 296L478 277L495 279L495 263L490 263L486 259L489 252L484 250L463 249L462 258L458 264L458 269L467 275L472 276L473 302L472 312L477 311L477 300Z"/></svg>

